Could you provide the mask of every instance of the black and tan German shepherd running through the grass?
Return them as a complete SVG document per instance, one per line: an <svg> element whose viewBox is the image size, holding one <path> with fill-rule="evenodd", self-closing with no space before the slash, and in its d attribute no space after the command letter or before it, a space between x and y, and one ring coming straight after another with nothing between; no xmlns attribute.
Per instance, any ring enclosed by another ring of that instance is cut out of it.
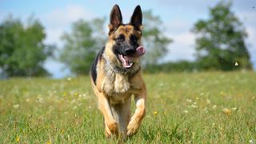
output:
<svg viewBox="0 0 256 144"><path fill-rule="evenodd" d="M110 12L109 34L90 70L90 80L104 116L106 137L127 138L138 131L144 117L146 85L142 79L139 58L142 10L137 6L128 24L122 23L118 5ZM131 117L130 102L134 95L136 110Z"/></svg>

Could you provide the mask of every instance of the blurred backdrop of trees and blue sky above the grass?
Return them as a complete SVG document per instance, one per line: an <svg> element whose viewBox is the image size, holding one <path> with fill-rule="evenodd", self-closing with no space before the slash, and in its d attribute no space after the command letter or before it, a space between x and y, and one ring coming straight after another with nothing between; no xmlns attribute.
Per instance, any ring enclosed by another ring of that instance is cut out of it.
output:
<svg viewBox="0 0 256 144"><path fill-rule="evenodd" d="M110 10L143 11L145 73L255 70L254 0L0 1L0 78L88 74Z"/></svg>

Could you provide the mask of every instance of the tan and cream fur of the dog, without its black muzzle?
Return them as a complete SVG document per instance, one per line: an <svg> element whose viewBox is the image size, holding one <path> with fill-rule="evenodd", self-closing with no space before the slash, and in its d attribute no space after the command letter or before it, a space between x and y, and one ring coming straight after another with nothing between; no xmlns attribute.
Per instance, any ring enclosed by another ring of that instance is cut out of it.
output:
<svg viewBox="0 0 256 144"><path fill-rule="evenodd" d="M113 26L109 27L113 29ZM134 65L127 70L126 74L114 70L114 66L122 67L122 63L113 52L114 39L119 34L123 34L126 41L129 41L131 34L139 38L138 42L142 36L141 30L134 30L134 26L118 26L118 30L109 35L102 58L98 60L96 85L93 78L91 78L91 84L98 98L98 108L104 116L106 137L115 134L126 138L138 131L142 118L146 114L146 85L142 79L139 58L133 59ZM136 110L130 117L132 95L134 95Z"/></svg>

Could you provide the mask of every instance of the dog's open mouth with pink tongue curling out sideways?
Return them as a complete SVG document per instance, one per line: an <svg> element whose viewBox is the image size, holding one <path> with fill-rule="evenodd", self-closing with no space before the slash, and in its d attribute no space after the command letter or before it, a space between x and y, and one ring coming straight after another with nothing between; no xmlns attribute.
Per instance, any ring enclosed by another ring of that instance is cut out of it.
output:
<svg viewBox="0 0 256 144"><path fill-rule="evenodd" d="M138 46L136 49L135 54L126 56L122 54L118 54L118 57L120 61L122 62L122 66L126 69L129 69L131 66L134 65L134 58L141 57L143 54L145 54L146 50L144 49L143 46Z"/></svg>

